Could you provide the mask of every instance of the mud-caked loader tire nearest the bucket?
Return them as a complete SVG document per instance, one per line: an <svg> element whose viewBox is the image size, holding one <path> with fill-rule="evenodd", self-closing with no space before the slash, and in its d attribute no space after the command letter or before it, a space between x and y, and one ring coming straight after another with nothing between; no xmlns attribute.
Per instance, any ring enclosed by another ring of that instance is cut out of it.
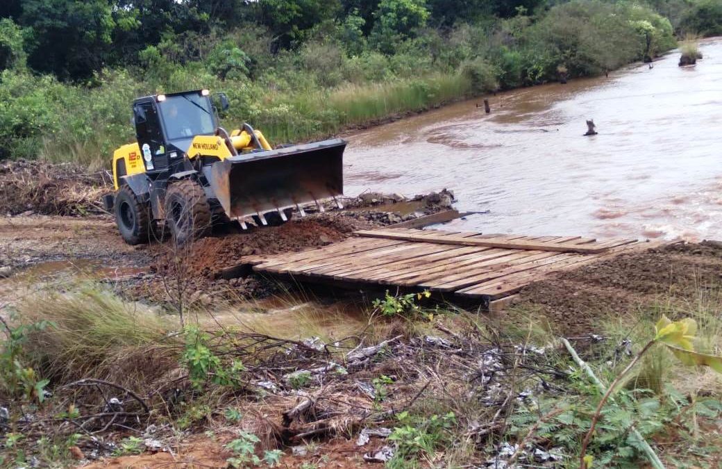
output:
<svg viewBox="0 0 722 469"><path fill-rule="evenodd" d="M165 220L179 245L202 238L211 231L211 207L200 184L184 179L168 186Z"/></svg>

